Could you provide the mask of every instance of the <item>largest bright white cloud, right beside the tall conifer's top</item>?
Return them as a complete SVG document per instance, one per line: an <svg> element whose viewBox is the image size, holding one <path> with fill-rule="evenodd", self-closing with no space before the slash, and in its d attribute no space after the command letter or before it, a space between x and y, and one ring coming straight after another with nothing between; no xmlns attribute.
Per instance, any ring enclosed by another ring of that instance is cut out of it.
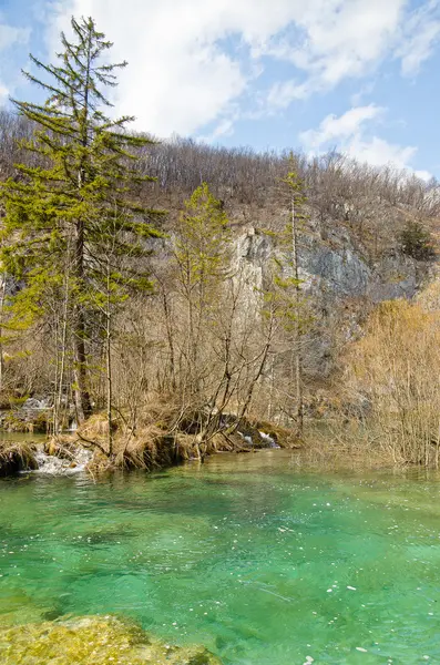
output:
<svg viewBox="0 0 440 665"><path fill-rule="evenodd" d="M158 135L191 133L223 120L231 103L260 71L243 49L232 54L222 40L237 37L248 51L276 34L295 16L299 0L71 0L60 6L53 33L70 16L93 16L114 41L113 57L126 59L119 111ZM270 11L268 9L270 8Z"/></svg>

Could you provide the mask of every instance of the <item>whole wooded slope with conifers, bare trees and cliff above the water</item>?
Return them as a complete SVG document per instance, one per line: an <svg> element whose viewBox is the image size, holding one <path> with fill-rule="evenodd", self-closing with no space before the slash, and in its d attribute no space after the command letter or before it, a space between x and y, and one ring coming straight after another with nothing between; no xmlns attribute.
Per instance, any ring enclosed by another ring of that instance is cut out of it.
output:
<svg viewBox="0 0 440 665"><path fill-rule="evenodd" d="M126 63L72 27L27 74L45 102L0 112L3 429L104 470L325 446L325 422L437 466L437 182L132 132Z"/></svg>

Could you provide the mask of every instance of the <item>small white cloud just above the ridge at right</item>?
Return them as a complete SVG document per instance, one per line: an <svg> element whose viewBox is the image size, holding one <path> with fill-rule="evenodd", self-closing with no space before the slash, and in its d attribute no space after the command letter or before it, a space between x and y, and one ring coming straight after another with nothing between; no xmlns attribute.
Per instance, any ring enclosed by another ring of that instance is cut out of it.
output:
<svg viewBox="0 0 440 665"><path fill-rule="evenodd" d="M385 112L386 109L370 104L349 109L340 116L327 115L317 130L303 132L299 139L310 152L324 152L336 145L340 152L360 162L375 166L392 164L413 172L422 180L430 180L429 172L416 171L411 166L417 147L389 143L375 134L371 135L371 124L376 129L375 123Z"/></svg>

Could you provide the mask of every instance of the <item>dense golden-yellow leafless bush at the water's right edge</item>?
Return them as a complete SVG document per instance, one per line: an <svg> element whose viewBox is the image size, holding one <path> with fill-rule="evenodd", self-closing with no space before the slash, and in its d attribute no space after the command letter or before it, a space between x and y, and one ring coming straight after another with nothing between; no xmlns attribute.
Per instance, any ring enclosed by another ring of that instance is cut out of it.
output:
<svg viewBox="0 0 440 665"><path fill-rule="evenodd" d="M382 304L348 356L346 402L369 449L396 464L439 466L440 316L421 303ZM360 420L359 420L360 419ZM347 427L339 437L347 440Z"/></svg>

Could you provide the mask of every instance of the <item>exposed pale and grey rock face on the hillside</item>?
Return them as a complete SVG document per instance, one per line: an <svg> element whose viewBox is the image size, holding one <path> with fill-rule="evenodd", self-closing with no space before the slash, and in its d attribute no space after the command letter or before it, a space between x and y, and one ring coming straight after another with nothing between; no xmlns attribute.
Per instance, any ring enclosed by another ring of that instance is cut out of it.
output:
<svg viewBox="0 0 440 665"><path fill-rule="evenodd" d="M264 226L264 219L260 223ZM237 236L234 273L244 279L247 301L255 307L260 306L258 294L274 260L286 265L286 250L274 235L248 227ZM319 321L309 347L310 374L328 375L336 348L358 336L368 311L382 300L415 297L432 269L432 264L417 262L396 247L374 259L344 226L334 226L323 237L318 224L309 222L298 235L298 273L301 291Z"/></svg>

